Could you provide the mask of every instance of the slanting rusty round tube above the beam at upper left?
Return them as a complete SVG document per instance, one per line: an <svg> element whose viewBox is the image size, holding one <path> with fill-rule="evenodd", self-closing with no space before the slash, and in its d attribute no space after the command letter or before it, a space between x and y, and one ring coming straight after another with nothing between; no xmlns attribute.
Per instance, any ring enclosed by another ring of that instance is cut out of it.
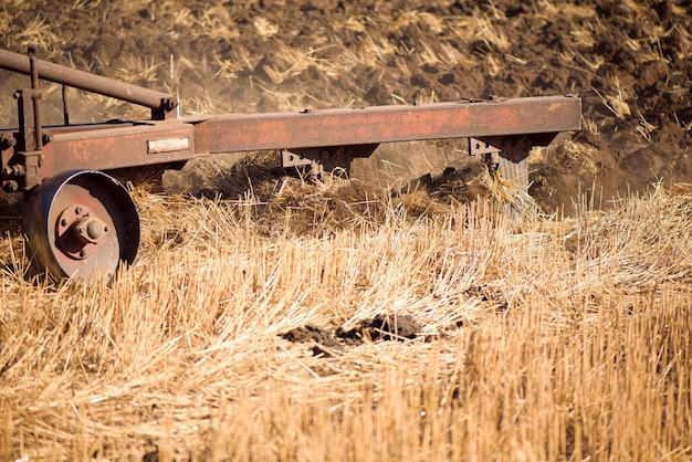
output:
<svg viewBox="0 0 692 462"><path fill-rule="evenodd" d="M103 77L84 71L77 71L60 64L36 60L39 77L56 82L87 92L98 93L116 99L138 104L151 109L170 111L177 106L176 96L157 92L155 90L143 88L137 85ZM0 50L0 67L20 74L31 75L29 57L23 54Z"/></svg>

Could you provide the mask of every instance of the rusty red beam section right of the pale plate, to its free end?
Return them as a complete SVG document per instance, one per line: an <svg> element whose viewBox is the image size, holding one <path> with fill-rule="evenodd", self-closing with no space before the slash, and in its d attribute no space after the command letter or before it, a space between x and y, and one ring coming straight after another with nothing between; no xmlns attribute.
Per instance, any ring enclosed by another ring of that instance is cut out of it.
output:
<svg viewBox="0 0 692 462"><path fill-rule="evenodd" d="M217 154L578 130L581 99L543 96L184 120L196 124L196 149Z"/></svg>

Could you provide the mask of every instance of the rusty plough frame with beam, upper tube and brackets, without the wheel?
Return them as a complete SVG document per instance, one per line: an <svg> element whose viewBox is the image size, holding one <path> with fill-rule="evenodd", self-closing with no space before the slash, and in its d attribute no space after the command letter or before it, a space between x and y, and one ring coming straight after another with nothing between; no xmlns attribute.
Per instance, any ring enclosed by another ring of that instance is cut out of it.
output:
<svg viewBox="0 0 692 462"><path fill-rule="evenodd" d="M531 147L545 146L558 133L581 127L581 101L574 95L178 117L172 95L32 60L33 64L24 55L0 50L0 67L32 75L32 83L40 76L144 105L151 108L151 119L91 125L66 120L62 126L42 127L40 122L32 123L39 118L38 84L19 92L20 127L0 130L0 179L10 191L30 190L73 169L166 166L264 149L282 150L284 166L348 171L354 158L370 156L381 143L441 138L470 138L470 154L500 156L515 164L520 176L526 177L518 181L527 187Z"/></svg>

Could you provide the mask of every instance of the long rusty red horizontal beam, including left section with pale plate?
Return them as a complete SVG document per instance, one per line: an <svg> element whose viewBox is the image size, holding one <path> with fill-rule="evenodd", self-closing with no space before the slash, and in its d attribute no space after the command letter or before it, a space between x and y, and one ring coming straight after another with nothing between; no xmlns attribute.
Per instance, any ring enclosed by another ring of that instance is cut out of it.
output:
<svg viewBox="0 0 692 462"><path fill-rule="evenodd" d="M406 140L500 137L541 146L559 132L579 129L580 118L578 97L546 96L49 127L52 138L43 147L39 181L72 169L111 170L262 149L371 147L365 154L348 150L353 158L367 157L380 143Z"/></svg>

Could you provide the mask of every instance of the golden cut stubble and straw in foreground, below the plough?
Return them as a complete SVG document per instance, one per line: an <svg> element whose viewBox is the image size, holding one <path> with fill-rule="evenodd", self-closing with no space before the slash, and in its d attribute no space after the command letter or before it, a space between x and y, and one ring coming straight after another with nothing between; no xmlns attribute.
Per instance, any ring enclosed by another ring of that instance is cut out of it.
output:
<svg viewBox="0 0 692 462"><path fill-rule="evenodd" d="M517 221L489 202L410 216L380 196L326 218L347 187L139 191L141 254L111 287L36 285L6 260L0 456L692 455L692 197ZM286 204L321 227L289 225ZM413 316L418 338L325 357L279 337L378 313Z"/></svg>

